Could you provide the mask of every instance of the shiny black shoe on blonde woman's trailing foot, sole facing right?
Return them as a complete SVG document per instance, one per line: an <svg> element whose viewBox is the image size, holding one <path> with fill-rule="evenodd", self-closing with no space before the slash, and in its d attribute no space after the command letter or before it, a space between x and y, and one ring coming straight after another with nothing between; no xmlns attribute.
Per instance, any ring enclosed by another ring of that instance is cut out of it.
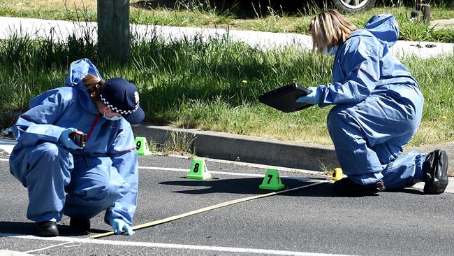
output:
<svg viewBox="0 0 454 256"><path fill-rule="evenodd" d="M429 153L423 163L425 194L441 194L448 186L448 155L445 150Z"/></svg>

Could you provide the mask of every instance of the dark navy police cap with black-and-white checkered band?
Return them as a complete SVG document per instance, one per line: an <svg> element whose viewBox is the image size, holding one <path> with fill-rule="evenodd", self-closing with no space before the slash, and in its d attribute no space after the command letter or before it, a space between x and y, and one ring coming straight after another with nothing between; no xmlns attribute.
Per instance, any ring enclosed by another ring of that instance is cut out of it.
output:
<svg viewBox="0 0 454 256"><path fill-rule="evenodd" d="M122 115L131 125L140 124L145 113L139 106L139 93L136 85L124 78L112 78L105 82L101 101L112 111Z"/></svg>

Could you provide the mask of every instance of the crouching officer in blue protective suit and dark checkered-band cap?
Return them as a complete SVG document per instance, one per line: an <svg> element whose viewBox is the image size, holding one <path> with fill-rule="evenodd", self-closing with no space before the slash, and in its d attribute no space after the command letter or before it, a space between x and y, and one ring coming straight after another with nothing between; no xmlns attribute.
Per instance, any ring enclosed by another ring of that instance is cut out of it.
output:
<svg viewBox="0 0 454 256"><path fill-rule="evenodd" d="M31 99L13 126L10 173L28 189L27 218L38 236L58 236L63 214L86 232L105 211L117 234L132 235L138 157L130 124L145 118L136 86L103 81L88 59L71 64L66 84ZM76 130L87 134L83 148L69 137Z"/></svg>

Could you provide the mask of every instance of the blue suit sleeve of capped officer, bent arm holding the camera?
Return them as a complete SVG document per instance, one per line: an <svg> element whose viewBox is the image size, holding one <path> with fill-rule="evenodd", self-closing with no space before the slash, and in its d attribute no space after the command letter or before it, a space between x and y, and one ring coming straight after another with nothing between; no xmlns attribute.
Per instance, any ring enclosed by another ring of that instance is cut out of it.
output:
<svg viewBox="0 0 454 256"><path fill-rule="evenodd" d="M40 141L58 143L64 127L53 124L71 106L72 94L54 90L53 94L40 95L32 101L41 103L20 115L12 127L17 142L25 146L37 145Z"/></svg>

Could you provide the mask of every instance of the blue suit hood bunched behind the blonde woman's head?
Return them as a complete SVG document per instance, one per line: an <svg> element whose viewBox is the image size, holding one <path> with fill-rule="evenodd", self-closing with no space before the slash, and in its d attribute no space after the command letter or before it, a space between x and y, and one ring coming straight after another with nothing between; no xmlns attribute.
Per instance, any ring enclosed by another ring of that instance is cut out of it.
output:
<svg viewBox="0 0 454 256"><path fill-rule="evenodd" d="M388 13L371 17L365 29L376 38L388 43L388 47L393 46L399 39L399 24L397 24L395 17Z"/></svg>

